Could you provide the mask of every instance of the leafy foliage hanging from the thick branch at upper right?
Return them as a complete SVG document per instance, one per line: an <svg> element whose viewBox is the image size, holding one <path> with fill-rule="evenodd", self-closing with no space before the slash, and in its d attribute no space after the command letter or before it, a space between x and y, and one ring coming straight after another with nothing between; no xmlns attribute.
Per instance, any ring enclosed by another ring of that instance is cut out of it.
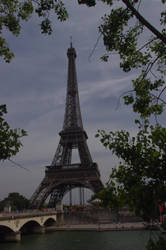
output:
<svg viewBox="0 0 166 250"><path fill-rule="evenodd" d="M132 81L133 93L124 97L125 104L131 104L133 111L141 117L158 115L162 112L165 101L161 98L165 89L166 39L165 12L160 13L161 32L149 24L136 10L139 1L122 0L122 6L117 7L117 1L104 1L110 5L110 14L106 14L99 26L103 36L106 54L102 60L108 61L113 51L120 56L120 67L124 72L138 70L138 77ZM164 4L165 1L162 1ZM138 5L138 7L137 7ZM135 8L134 8L135 7ZM139 21L136 21L136 18ZM147 29L147 40L142 38Z"/></svg>

